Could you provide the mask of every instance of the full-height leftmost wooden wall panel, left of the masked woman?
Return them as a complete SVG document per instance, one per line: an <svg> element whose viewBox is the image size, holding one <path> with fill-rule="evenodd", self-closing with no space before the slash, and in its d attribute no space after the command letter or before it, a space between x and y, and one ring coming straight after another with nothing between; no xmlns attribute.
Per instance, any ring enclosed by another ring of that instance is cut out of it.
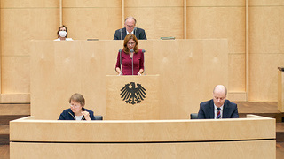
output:
<svg viewBox="0 0 284 159"><path fill-rule="evenodd" d="M59 26L55 2L1 1L2 94L29 94L30 40L54 39Z"/></svg>

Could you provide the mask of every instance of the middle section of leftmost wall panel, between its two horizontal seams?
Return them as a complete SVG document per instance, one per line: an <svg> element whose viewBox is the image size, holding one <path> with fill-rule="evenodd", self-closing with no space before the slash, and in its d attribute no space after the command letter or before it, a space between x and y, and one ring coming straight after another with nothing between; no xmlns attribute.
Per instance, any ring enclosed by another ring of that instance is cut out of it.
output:
<svg viewBox="0 0 284 159"><path fill-rule="evenodd" d="M2 9L2 56L29 55L30 40L57 38L58 9Z"/></svg>

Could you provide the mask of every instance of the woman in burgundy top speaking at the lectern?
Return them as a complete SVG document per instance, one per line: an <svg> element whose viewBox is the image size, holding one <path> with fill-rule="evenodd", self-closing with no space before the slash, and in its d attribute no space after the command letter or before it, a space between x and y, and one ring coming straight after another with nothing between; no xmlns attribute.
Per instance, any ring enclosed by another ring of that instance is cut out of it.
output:
<svg viewBox="0 0 284 159"><path fill-rule="evenodd" d="M144 53L138 49L138 40L134 34L124 38L123 49L119 49L115 70L119 75L138 75L144 72Z"/></svg>

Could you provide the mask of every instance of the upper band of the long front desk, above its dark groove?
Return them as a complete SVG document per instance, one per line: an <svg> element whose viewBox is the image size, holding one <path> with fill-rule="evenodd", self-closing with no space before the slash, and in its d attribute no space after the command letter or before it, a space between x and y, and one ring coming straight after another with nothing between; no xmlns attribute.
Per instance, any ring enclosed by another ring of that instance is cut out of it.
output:
<svg viewBox="0 0 284 159"><path fill-rule="evenodd" d="M257 116L222 120L104 120L84 122L36 120L33 117L25 117L10 122L10 140L105 143L275 140L275 127L274 118Z"/></svg>

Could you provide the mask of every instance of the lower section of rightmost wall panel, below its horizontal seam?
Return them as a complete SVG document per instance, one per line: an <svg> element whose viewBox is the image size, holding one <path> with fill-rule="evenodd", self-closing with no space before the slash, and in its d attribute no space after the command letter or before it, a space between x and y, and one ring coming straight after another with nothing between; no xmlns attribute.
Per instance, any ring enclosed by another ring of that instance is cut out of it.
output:
<svg viewBox="0 0 284 159"><path fill-rule="evenodd" d="M249 101L277 101L278 67L284 54L250 54Z"/></svg>

